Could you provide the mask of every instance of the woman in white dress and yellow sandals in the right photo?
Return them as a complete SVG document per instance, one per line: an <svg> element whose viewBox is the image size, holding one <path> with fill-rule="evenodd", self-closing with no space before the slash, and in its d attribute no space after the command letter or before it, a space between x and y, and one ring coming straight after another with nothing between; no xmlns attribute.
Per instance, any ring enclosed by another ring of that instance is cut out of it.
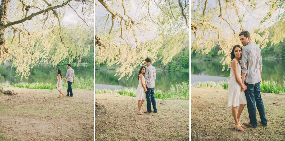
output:
<svg viewBox="0 0 285 141"><path fill-rule="evenodd" d="M236 130L244 131L244 125L240 124L240 114L246 105L246 97L244 91L246 90L246 86L242 84L241 79L241 54L242 48L240 45L235 45L231 52L231 63L230 63L230 70L231 70L231 79L229 84L229 102L228 107L232 107L232 114L234 117L234 126ZM238 113L237 113L237 107Z"/></svg>

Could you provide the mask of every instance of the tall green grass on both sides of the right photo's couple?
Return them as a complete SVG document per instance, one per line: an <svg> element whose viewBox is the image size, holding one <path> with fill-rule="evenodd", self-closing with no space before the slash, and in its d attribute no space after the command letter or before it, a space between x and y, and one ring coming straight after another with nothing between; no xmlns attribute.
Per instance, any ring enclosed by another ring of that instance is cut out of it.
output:
<svg viewBox="0 0 285 141"><path fill-rule="evenodd" d="M278 84L274 80L262 80L260 84L260 91L265 93L274 93L274 94L285 94L285 76L283 83ZM213 81L207 81L207 82L197 82L194 84L191 84L191 87L196 88L223 88L225 90L229 89L229 81L219 81L218 83Z"/></svg>

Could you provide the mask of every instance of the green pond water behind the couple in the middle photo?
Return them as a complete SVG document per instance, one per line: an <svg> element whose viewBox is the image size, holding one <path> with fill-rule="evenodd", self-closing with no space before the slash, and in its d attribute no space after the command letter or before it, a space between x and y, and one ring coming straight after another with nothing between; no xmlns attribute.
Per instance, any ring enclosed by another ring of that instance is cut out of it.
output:
<svg viewBox="0 0 285 141"><path fill-rule="evenodd" d="M95 70L95 83L106 84L106 85L119 85L119 86L134 87L134 88L138 87L139 84L138 71L133 72L132 76L128 80L122 78L119 81L118 80L119 76L114 76L115 74L116 70ZM157 71L156 80L155 80L155 89L160 89L163 92L168 92L171 83L175 84L175 83L181 83L183 81L189 82L189 72Z"/></svg>

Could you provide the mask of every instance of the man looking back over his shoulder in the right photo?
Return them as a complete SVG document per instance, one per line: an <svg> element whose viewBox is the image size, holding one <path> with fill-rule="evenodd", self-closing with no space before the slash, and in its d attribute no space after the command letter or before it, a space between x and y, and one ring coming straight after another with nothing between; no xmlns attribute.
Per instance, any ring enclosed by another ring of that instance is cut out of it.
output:
<svg viewBox="0 0 285 141"><path fill-rule="evenodd" d="M242 84L247 87L245 90L245 97L247 101L247 109L249 115L249 122L244 122L246 126L256 127L256 110L259 112L261 123L267 126L267 119L265 118L263 101L260 95L261 69L262 59L260 48L250 41L250 34L248 31L242 31L239 34L239 39L244 48L242 49ZM245 64L248 64L248 67Z"/></svg>

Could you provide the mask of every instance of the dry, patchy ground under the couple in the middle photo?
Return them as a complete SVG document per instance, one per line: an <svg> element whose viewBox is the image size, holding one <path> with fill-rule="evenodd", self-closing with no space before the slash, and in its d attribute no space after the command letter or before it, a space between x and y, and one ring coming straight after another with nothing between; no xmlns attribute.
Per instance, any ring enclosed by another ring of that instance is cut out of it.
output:
<svg viewBox="0 0 285 141"><path fill-rule="evenodd" d="M189 100L156 99L157 113L139 115L136 97L95 94L95 98L106 108L95 110L96 141L189 140Z"/></svg>

